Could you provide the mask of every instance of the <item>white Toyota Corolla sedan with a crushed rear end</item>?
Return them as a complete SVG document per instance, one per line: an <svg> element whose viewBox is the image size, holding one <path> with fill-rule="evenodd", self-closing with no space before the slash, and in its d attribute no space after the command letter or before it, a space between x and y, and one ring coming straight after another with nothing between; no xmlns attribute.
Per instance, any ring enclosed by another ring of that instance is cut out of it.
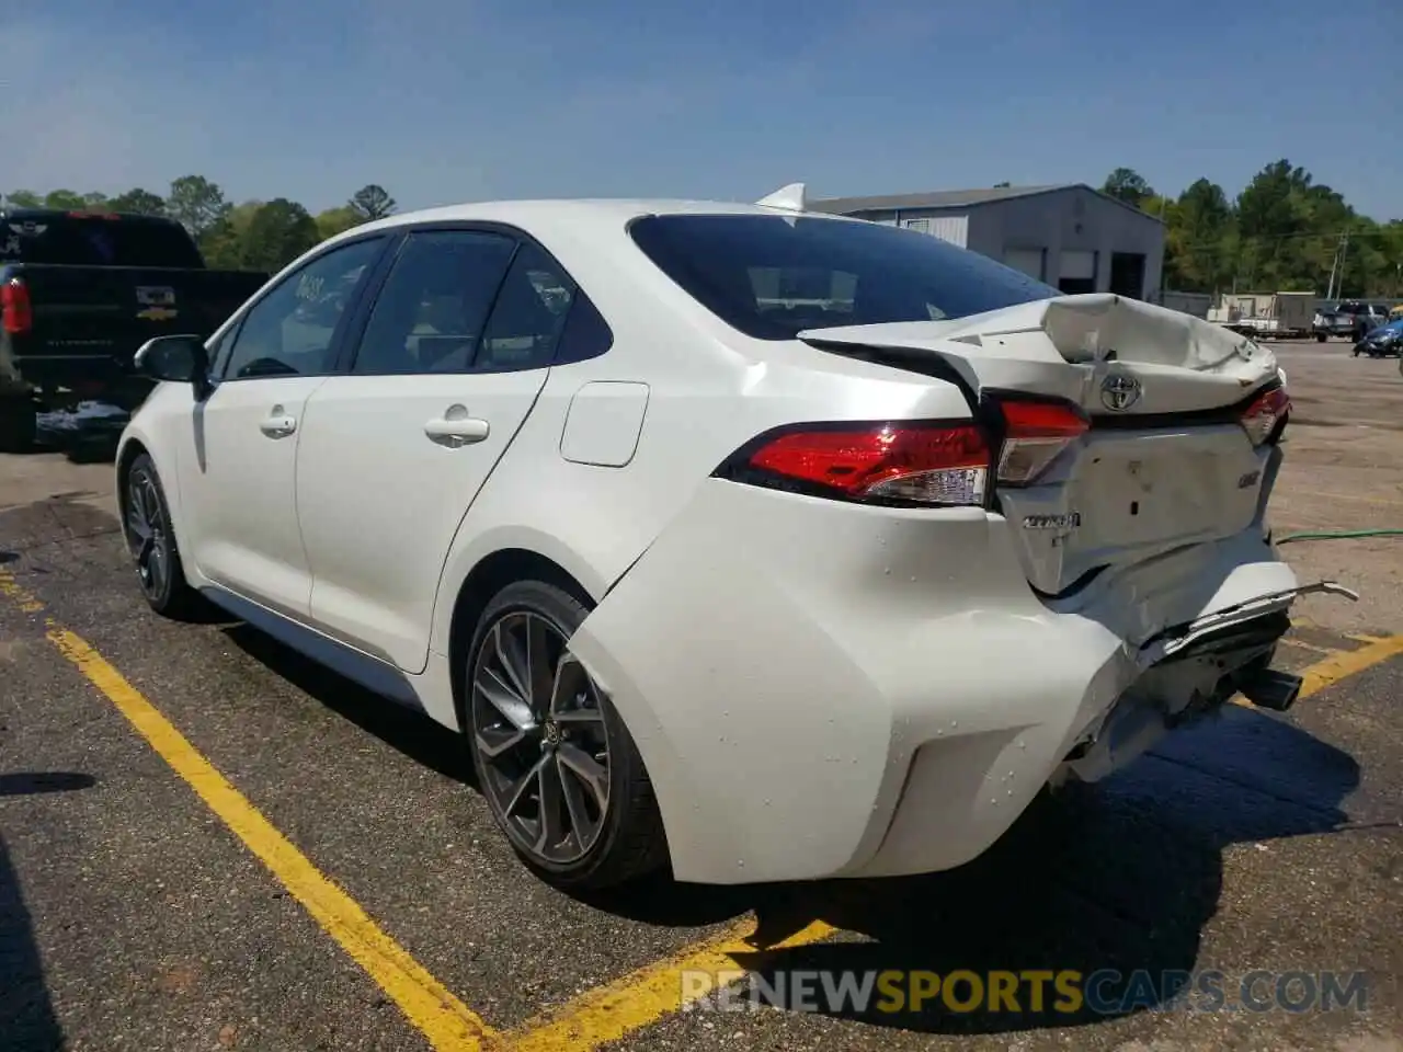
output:
<svg viewBox="0 0 1403 1052"><path fill-rule="evenodd" d="M118 454L142 592L460 731L603 886L941 870L1270 668L1274 356L758 205L393 216L275 275Z"/></svg>

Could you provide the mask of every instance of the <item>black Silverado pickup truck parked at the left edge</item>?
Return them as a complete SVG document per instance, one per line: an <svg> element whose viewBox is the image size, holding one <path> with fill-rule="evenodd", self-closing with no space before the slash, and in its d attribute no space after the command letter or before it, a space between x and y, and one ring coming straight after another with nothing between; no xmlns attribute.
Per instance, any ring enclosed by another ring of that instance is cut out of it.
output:
<svg viewBox="0 0 1403 1052"><path fill-rule="evenodd" d="M0 209L0 450L27 449L45 410L133 408L143 342L209 335L267 279L208 269L171 219Z"/></svg>

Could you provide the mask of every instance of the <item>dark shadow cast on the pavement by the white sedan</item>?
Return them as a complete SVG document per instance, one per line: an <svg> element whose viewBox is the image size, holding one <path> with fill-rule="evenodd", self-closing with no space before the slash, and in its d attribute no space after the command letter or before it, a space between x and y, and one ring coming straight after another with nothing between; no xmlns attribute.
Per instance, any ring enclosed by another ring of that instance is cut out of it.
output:
<svg viewBox="0 0 1403 1052"><path fill-rule="evenodd" d="M246 626L224 630L250 656L405 756L473 783L457 735L401 710ZM1223 850L1236 843L1327 833L1347 822L1340 804L1358 785L1347 753L1282 718L1226 706L1221 718L1176 732L1152 755L1097 785L1040 800L982 857L943 874L892 879L713 888L651 878L585 905L648 924L696 927L756 916L752 952L735 962L759 979L765 1003L794 1006L796 972L1079 972L1104 976L1079 1003L1045 986L1017 987L1010 1010L951 1010L937 990L918 1011L891 1010L874 992L867 1010L824 1003L810 979L808 1010L933 1034L1010 1032L1103 1021L1163 1004L1193 972L1222 892ZM939 830L936 830L939 835ZM814 922L845 933L780 947ZM838 941L842 938L845 941ZM1087 989L1083 985L1083 989ZM954 990L957 1009L968 980ZM741 999L742 1002L745 997Z"/></svg>

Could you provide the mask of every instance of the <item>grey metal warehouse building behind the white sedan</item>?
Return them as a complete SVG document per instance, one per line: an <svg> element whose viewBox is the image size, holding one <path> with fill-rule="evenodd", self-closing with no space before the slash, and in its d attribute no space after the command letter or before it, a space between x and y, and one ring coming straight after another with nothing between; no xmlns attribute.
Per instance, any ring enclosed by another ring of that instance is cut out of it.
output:
<svg viewBox="0 0 1403 1052"><path fill-rule="evenodd" d="M1164 224L1086 184L826 198L808 208L920 230L1066 293L1155 299L1164 264Z"/></svg>

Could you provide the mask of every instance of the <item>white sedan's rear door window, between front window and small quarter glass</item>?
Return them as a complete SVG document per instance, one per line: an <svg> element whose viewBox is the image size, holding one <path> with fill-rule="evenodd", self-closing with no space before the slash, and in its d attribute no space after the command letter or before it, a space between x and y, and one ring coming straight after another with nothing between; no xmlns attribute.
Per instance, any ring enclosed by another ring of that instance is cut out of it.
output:
<svg viewBox="0 0 1403 1052"><path fill-rule="evenodd" d="M351 372L467 372L515 251L515 238L495 233L411 234L376 297Z"/></svg>

